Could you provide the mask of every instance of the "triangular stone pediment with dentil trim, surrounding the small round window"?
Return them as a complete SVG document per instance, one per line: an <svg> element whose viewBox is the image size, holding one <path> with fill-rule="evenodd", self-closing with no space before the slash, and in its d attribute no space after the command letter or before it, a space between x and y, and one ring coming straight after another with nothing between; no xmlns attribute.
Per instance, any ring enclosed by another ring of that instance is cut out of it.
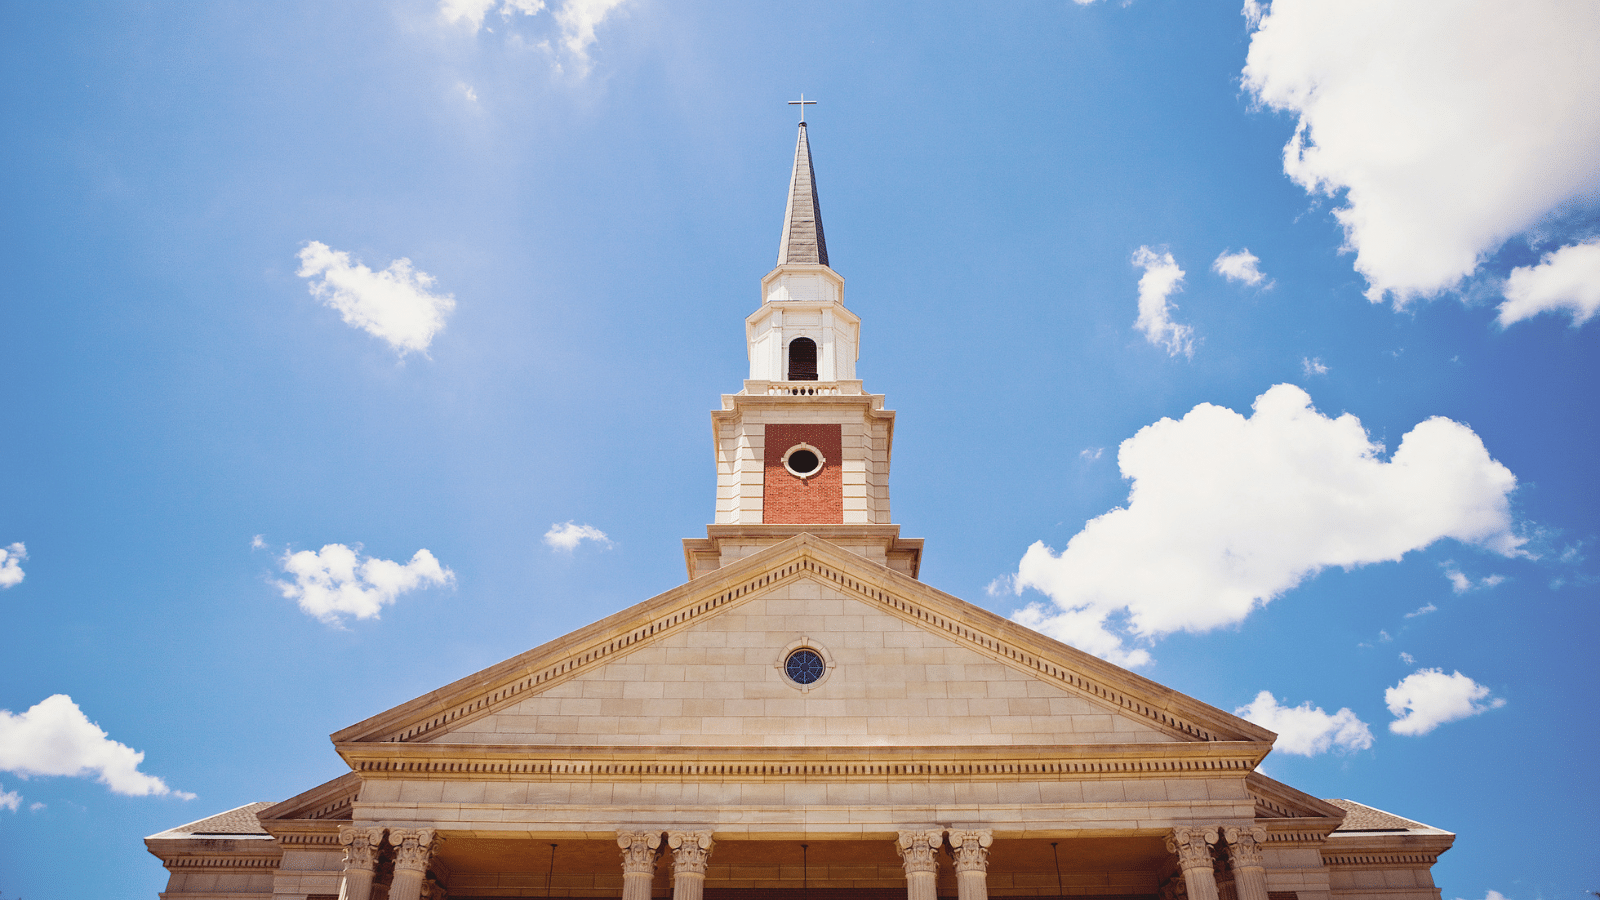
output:
<svg viewBox="0 0 1600 900"><path fill-rule="evenodd" d="M802 644L829 663L810 689L781 671ZM333 740L1022 748L1270 741L1272 733L798 535Z"/></svg>

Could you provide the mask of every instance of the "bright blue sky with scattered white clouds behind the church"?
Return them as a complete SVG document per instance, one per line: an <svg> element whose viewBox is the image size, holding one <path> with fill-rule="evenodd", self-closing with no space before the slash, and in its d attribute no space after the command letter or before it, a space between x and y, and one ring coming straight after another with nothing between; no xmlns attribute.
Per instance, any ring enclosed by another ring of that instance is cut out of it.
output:
<svg viewBox="0 0 1600 900"><path fill-rule="evenodd" d="M683 581L802 93L922 580L1600 889L1600 5L0 5L0 897Z"/></svg>

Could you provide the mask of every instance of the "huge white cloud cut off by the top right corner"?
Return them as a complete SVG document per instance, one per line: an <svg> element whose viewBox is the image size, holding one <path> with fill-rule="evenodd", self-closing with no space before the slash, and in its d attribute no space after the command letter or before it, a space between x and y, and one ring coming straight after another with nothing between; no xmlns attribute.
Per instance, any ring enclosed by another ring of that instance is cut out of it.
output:
<svg viewBox="0 0 1600 900"><path fill-rule="evenodd" d="M1600 3L1246 2L1245 90L1296 114L1283 170L1334 216L1368 298L1454 288L1600 189Z"/></svg>

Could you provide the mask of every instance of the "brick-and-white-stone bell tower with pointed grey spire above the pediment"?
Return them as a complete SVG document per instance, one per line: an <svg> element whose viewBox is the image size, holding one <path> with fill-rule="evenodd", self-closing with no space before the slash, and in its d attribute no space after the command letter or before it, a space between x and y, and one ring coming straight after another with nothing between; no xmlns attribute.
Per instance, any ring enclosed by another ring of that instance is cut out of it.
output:
<svg viewBox="0 0 1600 900"><path fill-rule="evenodd" d="M798 533L915 577L922 541L890 524L894 412L856 378L861 319L827 261L803 120L778 266L744 336L750 376L710 415L717 514L706 540L683 541L690 578Z"/></svg>

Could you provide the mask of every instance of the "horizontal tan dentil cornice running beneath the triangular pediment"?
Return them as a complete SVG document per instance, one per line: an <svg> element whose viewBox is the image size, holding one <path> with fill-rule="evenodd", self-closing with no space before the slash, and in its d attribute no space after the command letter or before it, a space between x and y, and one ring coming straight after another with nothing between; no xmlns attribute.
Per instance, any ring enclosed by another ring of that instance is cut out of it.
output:
<svg viewBox="0 0 1600 900"><path fill-rule="evenodd" d="M341 743L363 778L493 781L1059 781L1245 775L1258 741L1082 746L690 748Z"/></svg>

